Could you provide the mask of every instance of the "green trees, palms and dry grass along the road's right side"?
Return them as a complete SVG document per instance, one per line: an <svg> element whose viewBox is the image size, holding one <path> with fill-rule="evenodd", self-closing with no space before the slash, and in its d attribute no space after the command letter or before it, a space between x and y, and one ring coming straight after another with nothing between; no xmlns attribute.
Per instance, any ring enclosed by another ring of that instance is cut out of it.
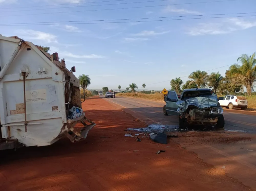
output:
<svg viewBox="0 0 256 191"><path fill-rule="evenodd" d="M188 76L188 81L183 83L180 77L172 79L171 90L181 93L189 88L211 88L216 94L243 95L248 100L248 109L256 109L256 53L252 55L242 54L237 61L240 64L230 66L225 76L219 72L208 74L205 71L196 70ZM142 84L143 91L136 92L138 86L135 83L129 85L125 91L118 93L119 96L144 98L151 100L163 100L163 94L154 90L145 91L146 84ZM244 91L244 89L246 91Z"/></svg>

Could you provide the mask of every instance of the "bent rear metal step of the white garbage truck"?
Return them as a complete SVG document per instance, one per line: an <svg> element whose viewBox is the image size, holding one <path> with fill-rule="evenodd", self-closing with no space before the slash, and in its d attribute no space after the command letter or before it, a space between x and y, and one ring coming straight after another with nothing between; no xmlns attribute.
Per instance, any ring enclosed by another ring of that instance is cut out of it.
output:
<svg viewBox="0 0 256 191"><path fill-rule="evenodd" d="M76 124L82 123L83 127L75 127ZM89 124L86 124L89 123ZM77 141L81 141L86 139L88 132L95 126L96 124L91 120L85 117L83 113L82 116L74 119L67 120L61 129L61 132L69 138L69 140L74 143Z"/></svg>

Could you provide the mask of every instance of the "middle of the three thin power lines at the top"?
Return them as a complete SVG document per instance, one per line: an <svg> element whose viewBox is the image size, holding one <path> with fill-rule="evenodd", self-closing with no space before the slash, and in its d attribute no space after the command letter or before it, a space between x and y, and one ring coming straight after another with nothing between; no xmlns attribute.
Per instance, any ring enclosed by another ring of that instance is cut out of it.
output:
<svg viewBox="0 0 256 191"><path fill-rule="evenodd" d="M134 4L134 3L150 3L150 2L161 2L161 1L170 1L170 0L139 1L139 2L112 3L112 4L101 4L101 5L84 5L84 6L57 7L57 8L52 7L52 8L30 9L30 10L1 11L0 13L22 12L22 11L39 11L39 10L60 9L60 8L79 8L79 7L91 7L91 6L106 6L106 5L123 5L123 4Z"/></svg>

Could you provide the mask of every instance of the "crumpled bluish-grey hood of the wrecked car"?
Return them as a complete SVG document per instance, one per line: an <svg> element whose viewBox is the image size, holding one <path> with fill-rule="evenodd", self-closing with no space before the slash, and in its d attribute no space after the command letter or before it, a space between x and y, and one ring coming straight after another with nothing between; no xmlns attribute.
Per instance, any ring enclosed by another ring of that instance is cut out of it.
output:
<svg viewBox="0 0 256 191"><path fill-rule="evenodd" d="M209 108L209 107L217 107L218 106L218 99L216 95L210 95L209 97L195 97L190 98L186 101L179 101L177 102L179 108L177 109L178 113L182 113L187 110L188 106L195 106L199 109Z"/></svg>

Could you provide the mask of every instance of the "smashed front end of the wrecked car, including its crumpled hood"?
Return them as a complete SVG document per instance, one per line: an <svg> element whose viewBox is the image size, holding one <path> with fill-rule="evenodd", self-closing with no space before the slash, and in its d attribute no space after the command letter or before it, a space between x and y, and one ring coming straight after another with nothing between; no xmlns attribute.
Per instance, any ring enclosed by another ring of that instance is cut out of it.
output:
<svg viewBox="0 0 256 191"><path fill-rule="evenodd" d="M215 94L180 101L177 112L187 124L198 125L216 125L219 117L223 115L223 109Z"/></svg>

